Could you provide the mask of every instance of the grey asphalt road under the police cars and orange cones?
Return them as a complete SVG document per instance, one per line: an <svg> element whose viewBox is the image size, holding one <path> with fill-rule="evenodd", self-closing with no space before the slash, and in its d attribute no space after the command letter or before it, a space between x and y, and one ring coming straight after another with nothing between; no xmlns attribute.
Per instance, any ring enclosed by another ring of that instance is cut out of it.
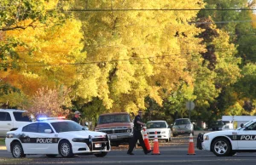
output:
<svg viewBox="0 0 256 165"><path fill-rule="evenodd" d="M206 164L206 165L241 165L255 164L256 153L237 153L235 156L219 157L209 151L199 151L195 148L195 155L188 153L188 136L178 136L171 143L160 143L160 155L144 155L141 148L135 149L134 156L126 154L126 147L113 148L105 157L74 156L73 158L48 158L44 155L26 156L23 159L14 159L5 150L0 151L0 164ZM195 141L195 140L194 140ZM196 143L196 142L195 142Z"/></svg>

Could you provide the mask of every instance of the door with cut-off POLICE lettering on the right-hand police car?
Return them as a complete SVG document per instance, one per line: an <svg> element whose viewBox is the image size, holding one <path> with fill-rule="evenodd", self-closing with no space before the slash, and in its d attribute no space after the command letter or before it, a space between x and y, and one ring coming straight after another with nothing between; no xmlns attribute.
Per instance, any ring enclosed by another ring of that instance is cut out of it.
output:
<svg viewBox="0 0 256 165"><path fill-rule="evenodd" d="M246 128L239 132L238 147L239 150L255 150L256 149L256 122L252 122Z"/></svg>

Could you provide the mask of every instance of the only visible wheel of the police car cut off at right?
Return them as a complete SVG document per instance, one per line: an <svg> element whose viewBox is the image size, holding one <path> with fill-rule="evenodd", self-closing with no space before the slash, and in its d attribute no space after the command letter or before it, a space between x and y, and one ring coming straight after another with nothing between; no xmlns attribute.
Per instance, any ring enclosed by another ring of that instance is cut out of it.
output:
<svg viewBox="0 0 256 165"><path fill-rule="evenodd" d="M216 156L229 156L231 151L230 142L224 138L215 139L212 143L212 151Z"/></svg>

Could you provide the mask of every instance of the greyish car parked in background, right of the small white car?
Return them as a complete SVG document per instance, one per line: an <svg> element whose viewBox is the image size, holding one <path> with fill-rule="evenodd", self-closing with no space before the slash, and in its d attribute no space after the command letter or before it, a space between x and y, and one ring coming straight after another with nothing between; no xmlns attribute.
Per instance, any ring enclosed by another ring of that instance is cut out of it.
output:
<svg viewBox="0 0 256 165"><path fill-rule="evenodd" d="M177 118L172 126L173 137L179 134L193 134L194 125L190 122L189 118Z"/></svg>

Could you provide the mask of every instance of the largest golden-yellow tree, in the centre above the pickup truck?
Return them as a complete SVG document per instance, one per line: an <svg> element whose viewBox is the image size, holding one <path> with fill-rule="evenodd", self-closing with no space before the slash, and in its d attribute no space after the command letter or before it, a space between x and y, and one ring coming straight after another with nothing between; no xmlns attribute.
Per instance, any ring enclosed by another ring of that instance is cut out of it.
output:
<svg viewBox="0 0 256 165"><path fill-rule="evenodd" d="M193 84L189 69L197 65L204 50L201 39L195 37L201 30L189 24L197 11L139 9L201 9L203 5L201 0L79 1L86 9L138 10L75 13L83 21L88 63L79 66L76 99L88 104L102 100L108 111L135 113L145 109L146 97L162 105L181 83Z"/></svg>

